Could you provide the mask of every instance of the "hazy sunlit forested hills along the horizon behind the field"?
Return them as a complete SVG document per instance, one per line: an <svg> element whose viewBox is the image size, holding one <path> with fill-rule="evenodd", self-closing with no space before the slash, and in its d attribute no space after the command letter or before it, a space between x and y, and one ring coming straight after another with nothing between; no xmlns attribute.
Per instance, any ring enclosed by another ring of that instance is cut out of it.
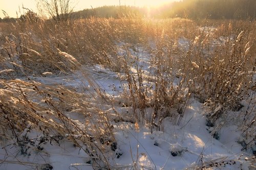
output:
<svg viewBox="0 0 256 170"><path fill-rule="evenodd" d="M71 18L120 18L124 16L188 19L255 19L256 0L183 0L165 4L160 8L139 8L132 6L103 6L71 13ZM23 18L24 15L20 16ZM0 18L12 22L15 18Z"/></svg>

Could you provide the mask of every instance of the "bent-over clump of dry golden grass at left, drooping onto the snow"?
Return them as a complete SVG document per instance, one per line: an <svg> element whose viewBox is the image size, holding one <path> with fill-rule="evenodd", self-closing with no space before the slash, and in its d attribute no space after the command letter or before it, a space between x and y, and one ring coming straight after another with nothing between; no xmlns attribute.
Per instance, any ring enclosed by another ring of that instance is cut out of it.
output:
<svg viewBox="0 0 256 170"><path fill-rule="evenodd" d="M11 140L14 136L14 143L20 147L21 154L27 155L30 139L24 132L35 129L44 134L41 138L48 141L66 138L90 156L100 158L94 159L95 162L101 159L107 162L103 151L111 150L114 138L103 111L91 104L95 103L91 94L32 80L1 81L1 87L2 141ZM85 124L77 124L72 114L85 119ZM100 142L97 144L94 141Z"/></svg>

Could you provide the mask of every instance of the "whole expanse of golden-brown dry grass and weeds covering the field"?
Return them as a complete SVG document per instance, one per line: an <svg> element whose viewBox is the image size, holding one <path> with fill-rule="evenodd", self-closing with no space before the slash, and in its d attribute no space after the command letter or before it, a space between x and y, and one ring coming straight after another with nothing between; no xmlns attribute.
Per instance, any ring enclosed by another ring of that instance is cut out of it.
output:
<svg viewBox="0 0 256 170"><path fill-rule="evenodd" d="M210 23L214 31L199 29ZM112 122L125 120L150 126L152 131L160 130L166 117L179 124L193 95L210 106L208 119L218 126L218 118L228 119L228 110L236 110L249 92L255 92L255 32L255 22L209 21L200 26L180 18L91 18L56 23L32 17L1 26L1 139L14 136L26 154L26 141L20 134L31 125L45 138L64 137L81 148L86 143L87 149L83 149L95 166L108 167L105 154L115 143ZM187 47L182 47L181 38ZM119 43L125 44L123 54L118 52ZM140 65L138 46L148 53L148 72ZM70 74L81 65L93 64L124 75L127 86L119 98L99 90L86 72L83 76L93 92L49 86L32 78L16 79ZM124 98L128 102L123 107L132 108L130 119L116 111ZM255 105L254 98L250 105ZM148 108L152 110L148 112ZM78 125L67 113L83 116L85 124ZM241 115L245 117L245 137L255 133L253 113L255 109L247 109Z"/></svg>

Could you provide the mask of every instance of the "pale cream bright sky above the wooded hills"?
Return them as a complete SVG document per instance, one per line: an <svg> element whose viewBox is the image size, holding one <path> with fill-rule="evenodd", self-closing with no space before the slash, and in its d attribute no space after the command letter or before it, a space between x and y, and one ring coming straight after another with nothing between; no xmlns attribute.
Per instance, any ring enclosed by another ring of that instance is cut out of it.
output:
<svg viewBox="0 0 256 170"><path fill-rule="evenodd" d="M39 0L40 1L40 0ZM51 0L50 0L51 1ZM119 5L119 0L71 0L73 6L75 6L75 11L83 10L86 8L93 8L104 6L104 5ZM121 5L127 6L158 6L164 3L173 2L178 0L120 0ZM18 16L20 13L23 14L22 6L33 10L36 12L36 0L0 0L0 17L4 18L2 10L8 13L10 17L16 17L16 12ZM20 7L20 12L19 12Z"/></svg>

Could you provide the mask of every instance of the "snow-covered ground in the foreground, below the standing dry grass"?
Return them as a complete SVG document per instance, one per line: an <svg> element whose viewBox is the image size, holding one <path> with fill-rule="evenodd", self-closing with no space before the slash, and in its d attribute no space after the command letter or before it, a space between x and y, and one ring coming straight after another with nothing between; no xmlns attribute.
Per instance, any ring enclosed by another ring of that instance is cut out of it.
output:
<svg viewBox="0 0 256 170"><path fill-rule="evenodd" d="M108 84L113 84L116 78L112 72L105 72L108 76L105 75L104 80L98 77L97 81L103 81L102 87L105 85L105 89L110 89ZM58 79L37 80L63 84L68 77L61 78L63 82ZM80 82L74 79L67 85L77 87L77 83ZM146 126L138 129L132 123L113 123L117 148L109 153L112 169L200 169L201 165L214 166L209 169L249 169L251 163L246 159L251 155L241 151L243 147L238 141L242 132L239 127L224 125L217 140L207 130L209 127L206 126L204 107L197 99L191 98L179 126L167 117L160 131L155 130L153 133ZM82 127L83 116L75 112L70 114ZM62 138L41 138L44 135L31 130L30 126L22 135L30 139L31 145L37 145L37 150L31 147L26 151L28 154L21 155L17 145L2 144L0 169L93 169L91 157L67 141L68 135Z"/></svg>

